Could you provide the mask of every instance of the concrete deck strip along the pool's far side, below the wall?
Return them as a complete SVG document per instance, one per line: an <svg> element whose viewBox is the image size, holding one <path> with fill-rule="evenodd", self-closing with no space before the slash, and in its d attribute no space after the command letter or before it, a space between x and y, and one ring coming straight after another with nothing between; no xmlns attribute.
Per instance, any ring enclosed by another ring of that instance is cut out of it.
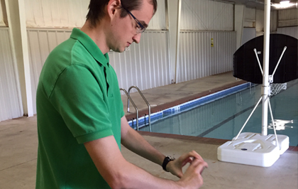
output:
<svg viewBox="0 0 298 189"><path fill-rule="evenodd" d="M243 83L245 83L245 81L239 79L236 80L236 78L233 77L232 72L224 72L217 75L202 77L197 80L143 90L142 93L151 106L151 113L154 113ZM132 92L131 98L139 109L139 117L148 114L148 106L138 92ZM122 102L124 112L126 112L126 118L128 120L133 118L136 119L136 110L132 104L130 104L131 113L127 112L126 95L122 95Z"/></svg>

